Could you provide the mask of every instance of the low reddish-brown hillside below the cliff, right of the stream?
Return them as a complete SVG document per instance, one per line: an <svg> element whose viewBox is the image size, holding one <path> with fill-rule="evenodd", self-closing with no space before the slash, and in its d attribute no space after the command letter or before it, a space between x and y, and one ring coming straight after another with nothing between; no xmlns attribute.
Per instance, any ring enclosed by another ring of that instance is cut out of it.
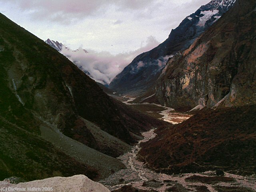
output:
<svg viewBox="0 0 256 192"><path fill-rule="evenodd" d="M140 160L158 172L256 172L256 105L203 109L178 125L158 129L143 143Z"/></svg>

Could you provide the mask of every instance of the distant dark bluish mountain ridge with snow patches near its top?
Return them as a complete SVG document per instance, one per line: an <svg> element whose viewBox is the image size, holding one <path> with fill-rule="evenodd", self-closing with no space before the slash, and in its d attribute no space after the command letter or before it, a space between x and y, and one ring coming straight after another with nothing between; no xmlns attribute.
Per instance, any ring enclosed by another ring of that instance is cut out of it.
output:
<svg viewBox="0 0 256 192"><path fill-rule="evenodd" d="M142 53L116 76L109 87L123 94L138 96L152 86L168 58L188 48L209 26L215 23L235 0L212 0L186 17L156 48Z"/></svg>

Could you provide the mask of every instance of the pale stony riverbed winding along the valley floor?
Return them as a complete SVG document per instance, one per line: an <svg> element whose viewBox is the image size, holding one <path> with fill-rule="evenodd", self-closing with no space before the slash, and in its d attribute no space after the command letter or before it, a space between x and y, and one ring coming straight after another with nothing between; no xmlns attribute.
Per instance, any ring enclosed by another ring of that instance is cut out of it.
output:
<svg viewBox="0 0 256 192"><path fill-rule="evenodd" d="M149 108L150 113L159 114L159 119L165 120L172 124L180 123L188 119L190 114L182 114L175 112L172 108L163 107L157 104L132 104L134 98L123 98L122 102L134 106L146 112ZM139 107L136 107L139 106ZM152 107L154 106L154 107ZM207 171L196 174L178 174L167 175L154 172L145 168L143 162L137 160L140 144L154 138L156 133L154 129L142 133L144 139L140 140L132 150L120 157L119 160L127 167L127 169L119 170L108 178L101 180L107 188L115 192L128 191L177 191L177 192L254 192L256 191L256 176L238 176L225 173L225 176L216 176L213 171Z"/></svg>

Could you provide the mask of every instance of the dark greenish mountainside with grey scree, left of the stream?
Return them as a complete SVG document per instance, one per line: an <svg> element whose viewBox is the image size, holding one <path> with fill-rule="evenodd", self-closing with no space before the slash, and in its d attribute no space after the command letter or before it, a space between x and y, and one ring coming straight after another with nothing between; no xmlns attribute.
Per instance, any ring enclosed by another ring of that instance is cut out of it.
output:
<svg viewBox="0 0 256 192"><path fill-rule="evenodd" d="M0 14L0 179L125 168L116 157L162 122L105 94L44 41Z"/></svg>

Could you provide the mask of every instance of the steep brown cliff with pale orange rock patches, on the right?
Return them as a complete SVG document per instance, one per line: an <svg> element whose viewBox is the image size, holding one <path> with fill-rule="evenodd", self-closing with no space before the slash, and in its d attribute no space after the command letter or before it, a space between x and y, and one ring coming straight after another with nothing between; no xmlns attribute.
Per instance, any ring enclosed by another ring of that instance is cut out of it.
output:
<svg viewBox="0 0 256 192"><path fill-rule="evenodd" d="M255 1L238 1L168 61L154 90L161 104L193 108L256 102Z"/></svg>

